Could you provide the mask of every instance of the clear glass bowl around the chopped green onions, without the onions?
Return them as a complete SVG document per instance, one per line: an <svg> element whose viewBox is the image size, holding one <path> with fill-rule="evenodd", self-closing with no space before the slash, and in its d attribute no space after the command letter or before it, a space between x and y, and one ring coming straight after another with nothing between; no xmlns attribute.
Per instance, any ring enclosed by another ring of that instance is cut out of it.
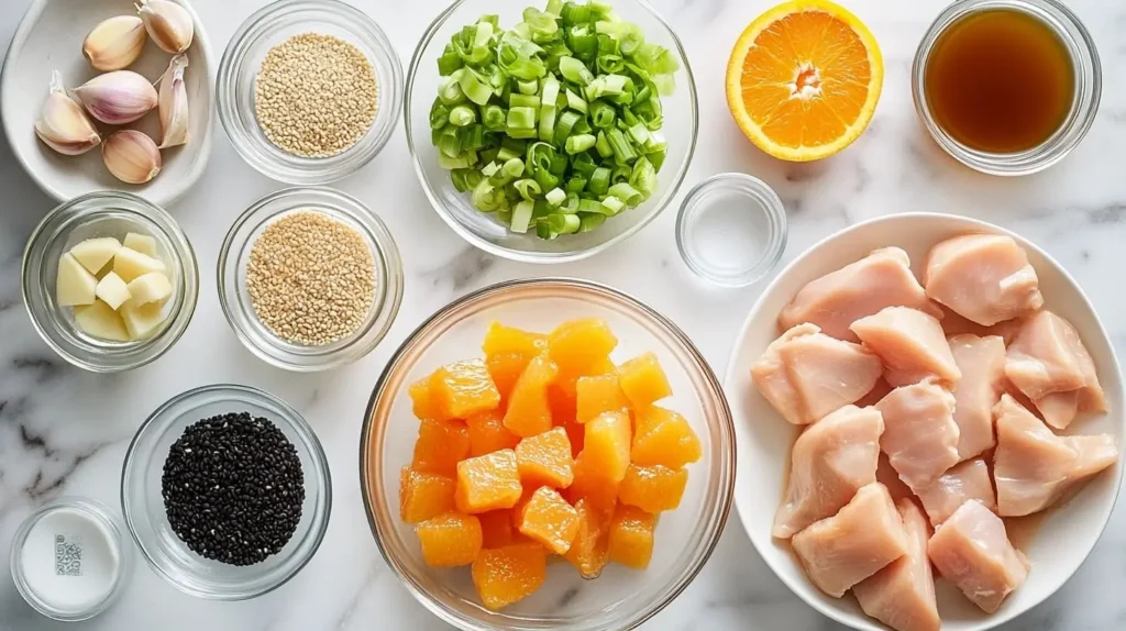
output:
<svg viewBox="0 0 1126 631"><path fill-rule="evenodd" d="M450 37L463 26L481 16L497 13L501 28L511 28L529 6L543 8L542 0L457 0L443 11L422 35L406 73L406 146L411 151L414 172L438 215L465 241L491 254L529 263L562 263L586 259L629 237L669 205L685 179L696 148L698 127L696 84L680 39L672 27L645 0L614 0L623 19L641 27L645 40L660 44L680 62L676 73L677 89L662 97L664 127L661 133L669 142L669 154L658 174L658 191L641 206L608 219L598 229L563 235L554 241L512 233L507 226L470 202L470 193L457 192L449 171L438 166L438 150L430 139L430 106L443 80L437 60Z"/></svg>

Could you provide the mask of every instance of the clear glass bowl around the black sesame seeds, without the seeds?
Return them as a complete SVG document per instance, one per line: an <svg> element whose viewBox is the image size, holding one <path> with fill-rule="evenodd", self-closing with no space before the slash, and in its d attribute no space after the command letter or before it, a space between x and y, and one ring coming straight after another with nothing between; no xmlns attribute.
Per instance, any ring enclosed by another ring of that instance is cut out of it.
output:
<svg viewBox="0 0 1126 631"><path fill-rule="evenodd" d="M240 412L277 425L297 449L305 475L305 503L293 538L277 555L243 567L205 559L189 550L168 523L161 493L164 459L184 430L203 418ZM129 534L157 574L193 596L242 601L283 585L321 546L331 505L329 462L313 429L296 409L254 388L215 385L177 395L145 420L125 452L122 512Z"/></svg>

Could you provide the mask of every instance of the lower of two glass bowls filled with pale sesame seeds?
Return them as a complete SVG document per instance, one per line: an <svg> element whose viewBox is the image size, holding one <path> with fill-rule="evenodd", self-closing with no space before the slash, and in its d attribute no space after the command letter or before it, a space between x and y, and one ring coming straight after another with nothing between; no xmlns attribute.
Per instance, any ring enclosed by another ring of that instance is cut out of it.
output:
<svg viewBox="0 0 1126 631"><path fill-rule="evenodd" d="M325 226L333 232L322 233ZM282 227L288 232L276 235ZM338 243L343 237L349 247ZM286 247L269 247L278 242ZM342 273L343 261L366 280ZM387 227L359 200L327 188L285 189L252 204L223 241L217 274L220 305L239 341L298 372L366 355L391 328L403 296L402 261ZM329 301L303 306L314 294Z"/></svg>

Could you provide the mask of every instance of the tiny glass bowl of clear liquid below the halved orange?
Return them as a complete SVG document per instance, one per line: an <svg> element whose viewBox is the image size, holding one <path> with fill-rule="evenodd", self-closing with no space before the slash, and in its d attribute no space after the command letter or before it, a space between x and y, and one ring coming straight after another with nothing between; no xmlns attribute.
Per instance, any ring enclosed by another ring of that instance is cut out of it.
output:
<svg viewBox="0 0 1126 631"><path fill-rule="evenodd" d="M770 273L786 250L786 208L758 178L714 175L681 202L677 249L688 269L711 282L752 285Z"/></svg>

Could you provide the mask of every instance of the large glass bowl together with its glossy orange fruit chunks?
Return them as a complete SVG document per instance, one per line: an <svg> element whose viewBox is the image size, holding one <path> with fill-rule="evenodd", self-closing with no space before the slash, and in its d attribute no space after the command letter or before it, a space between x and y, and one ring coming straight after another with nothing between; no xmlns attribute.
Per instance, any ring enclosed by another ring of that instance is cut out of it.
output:
<svg viewBox="0 0 1126 631"><path fill-rule="evenodd" d="M637 627L707 561L733 476L731 413L687 336L572 279L439 310L381 376L360 442L384 558L461 629Z"/></svg>

